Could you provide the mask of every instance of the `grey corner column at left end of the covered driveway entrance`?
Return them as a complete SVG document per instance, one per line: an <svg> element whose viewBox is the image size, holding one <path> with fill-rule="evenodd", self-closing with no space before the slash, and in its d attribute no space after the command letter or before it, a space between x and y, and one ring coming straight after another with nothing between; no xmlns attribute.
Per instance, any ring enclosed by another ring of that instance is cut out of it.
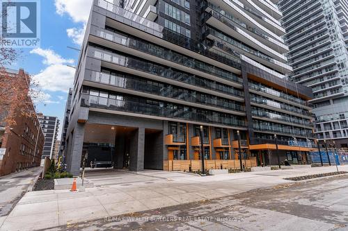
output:
<svg viewBox="0 0 348 231"><path fill-rule="evenodd" d="M84 124L77 123L73 133L70 135L70 150L68 171L74 176L79 176L81 166L82 148L84 146Z"/></svg>

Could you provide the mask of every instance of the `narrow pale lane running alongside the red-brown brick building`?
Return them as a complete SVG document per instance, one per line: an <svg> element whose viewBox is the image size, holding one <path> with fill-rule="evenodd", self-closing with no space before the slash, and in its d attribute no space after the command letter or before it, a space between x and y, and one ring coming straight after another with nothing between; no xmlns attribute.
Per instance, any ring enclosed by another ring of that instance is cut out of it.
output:
<svg viewBox="0 0 348 231"><path fill-rule="evenodd" d="M42 168L36 167L0 177L0 227L40 171Z"/></svg>

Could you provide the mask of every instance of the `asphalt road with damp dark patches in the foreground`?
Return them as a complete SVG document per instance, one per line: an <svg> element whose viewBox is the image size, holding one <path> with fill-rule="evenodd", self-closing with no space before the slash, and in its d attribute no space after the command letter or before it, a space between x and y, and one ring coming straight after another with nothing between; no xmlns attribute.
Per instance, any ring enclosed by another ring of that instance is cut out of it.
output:
<svg viewBox="0 0 348 231"><path fill-rule="evenodd" d="M348 230L348 176L258 189L52 230Z"/></svg>

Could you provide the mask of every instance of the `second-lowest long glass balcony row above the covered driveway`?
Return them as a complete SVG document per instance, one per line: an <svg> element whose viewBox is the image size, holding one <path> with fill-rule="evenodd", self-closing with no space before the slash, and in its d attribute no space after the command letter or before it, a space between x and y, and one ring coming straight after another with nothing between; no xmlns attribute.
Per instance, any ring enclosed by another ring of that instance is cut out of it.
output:
<svg viewBox="0 0 348 231"><path fill-rule="evenodd" d="M157 96L164 96L168 98L178 99L180 101L187 101L191 103L200 103L203 105L210 105L216 108L226 108L228 110L236 110L244 112L244 106L237 104L235 101L222 99L220 97L203 94L196 91L189 91L175 87L173 85L164 85L163 83L152 83L151 81L140 80L135 76L128 76L124 74L108 74L97 71L86 71L86 80L96 83L103 83L122 87L124 89L132 89L137 92L145 92L155 94ZM168 99L170 100L170 99Z"/></svg>

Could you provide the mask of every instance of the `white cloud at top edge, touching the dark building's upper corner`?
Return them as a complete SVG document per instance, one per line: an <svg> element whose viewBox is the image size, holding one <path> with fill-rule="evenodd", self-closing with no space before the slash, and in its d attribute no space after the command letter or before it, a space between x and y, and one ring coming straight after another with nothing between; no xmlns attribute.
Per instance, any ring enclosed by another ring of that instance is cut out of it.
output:
<svg viewBox="0 0 348 231"><path fill-rule="evenodd" d="M56 12L63 16L68 14L74 22L86 24L93 0L55 0Z"/></svg>

